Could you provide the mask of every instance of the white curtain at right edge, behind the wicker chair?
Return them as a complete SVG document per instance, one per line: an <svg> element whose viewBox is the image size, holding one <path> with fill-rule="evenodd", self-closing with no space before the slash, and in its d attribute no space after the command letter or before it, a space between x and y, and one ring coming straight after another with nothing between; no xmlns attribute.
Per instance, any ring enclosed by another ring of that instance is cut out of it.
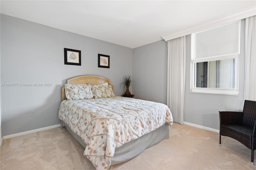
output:
<svg viewBox="0 0 256 170"><path fill-rule="evenodd" d="M246 18L244 99L256 101L256 16Z"/></svg>

